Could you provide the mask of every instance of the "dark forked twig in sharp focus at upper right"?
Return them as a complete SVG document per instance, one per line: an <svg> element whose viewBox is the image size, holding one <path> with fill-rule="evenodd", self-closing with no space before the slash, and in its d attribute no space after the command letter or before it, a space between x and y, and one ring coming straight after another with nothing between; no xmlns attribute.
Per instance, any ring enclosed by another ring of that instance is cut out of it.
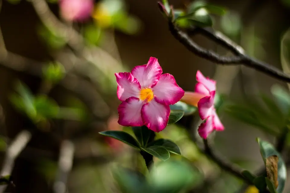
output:
<svg viewBox="0 0 290 193"><path fill-rule="evenodd" d="M219 55L218 53L202 48L197 43L195 43L187 33L181 31L172 21L169 20L169 30L172 35L179 40L189 51L192 53L210 60L211 62L222 64L222 65L245 65L250 68L254 68L257 71L261 71L265 74L268 74L274 78L277 78L281 81L290 82L290 75L285 74L283 71L279 70L278 68L269 65L265 62L259 61L257 59L251 58L250 56L246 55L245 53L239 50L240 47L235 47L235 45L231 45L226 40L223 40L222 37L217 36L214 33L209 33L208 30L201 30L203 34L207 37L211 38L215 42L227 46L233 52L236 53L237 56L226 57ZM203 28L200 28L203 29Z"/></svg>

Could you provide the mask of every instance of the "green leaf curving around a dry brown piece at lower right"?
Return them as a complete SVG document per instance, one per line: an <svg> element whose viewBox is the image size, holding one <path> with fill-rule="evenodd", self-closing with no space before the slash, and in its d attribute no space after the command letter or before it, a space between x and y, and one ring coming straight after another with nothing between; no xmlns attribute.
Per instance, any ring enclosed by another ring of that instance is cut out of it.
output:
<svg viewBox="0 0 290 193"><path fill-rule="evenodd" d="M259 138L257 138L257 141L258 141L258 144L260 147L260 152L261 152L261 155L263 157L264 163L265 163L266 158L268 158L269 156L276 155L279 157L279 161L278 161L278 183L279 183L279 185L278 185L278 188L276 191L277 191L277 193L282 193L284 190L286 176L287 176L285 162L283 161L280 153L276 151L276 149L273 147L272 144L270 144L267 141L262 141ZM265 163L265 167L266 167L266 163Z"/></svg>

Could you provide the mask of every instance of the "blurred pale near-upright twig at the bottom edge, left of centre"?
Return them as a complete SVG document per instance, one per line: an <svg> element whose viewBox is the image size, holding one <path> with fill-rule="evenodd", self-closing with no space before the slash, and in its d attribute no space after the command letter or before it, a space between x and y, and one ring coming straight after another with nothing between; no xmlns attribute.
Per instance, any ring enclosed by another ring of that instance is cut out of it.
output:
<svg viewBox="0 0 290 193"><path fill-rule="evenodd" d="M66 192L66 182L69 172L72 169L74 150L74 144L71 141L66 140L61 144L58 172L53 185L55 193Z"/></svg>

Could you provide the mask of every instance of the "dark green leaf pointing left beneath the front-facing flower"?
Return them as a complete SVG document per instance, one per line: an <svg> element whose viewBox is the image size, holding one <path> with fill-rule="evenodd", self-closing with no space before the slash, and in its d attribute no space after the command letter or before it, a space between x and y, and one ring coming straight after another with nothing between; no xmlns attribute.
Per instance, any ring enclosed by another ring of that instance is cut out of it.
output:
<svg viewBox="0 0 290 193"><path fill-rule="evenodd" d="M102 131L99 134L117 139L137 149L140 147L136 139L124 131Z"/></svg>

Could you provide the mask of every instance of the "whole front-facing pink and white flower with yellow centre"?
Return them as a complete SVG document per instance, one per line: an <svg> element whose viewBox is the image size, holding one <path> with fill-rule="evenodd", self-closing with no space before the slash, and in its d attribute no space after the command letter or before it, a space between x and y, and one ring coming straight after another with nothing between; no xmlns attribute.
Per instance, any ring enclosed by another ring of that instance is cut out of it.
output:
<svg viewBox="0 0 290 193"><path fill-rule="evenodd" d="M155 132L162 131L169 120L169 105L177 103L184 95L171 74L162 74L156 58L150 57L145 65L135 66L131 73L115 73L118 123L134 127L145 125Z"/></svg>

